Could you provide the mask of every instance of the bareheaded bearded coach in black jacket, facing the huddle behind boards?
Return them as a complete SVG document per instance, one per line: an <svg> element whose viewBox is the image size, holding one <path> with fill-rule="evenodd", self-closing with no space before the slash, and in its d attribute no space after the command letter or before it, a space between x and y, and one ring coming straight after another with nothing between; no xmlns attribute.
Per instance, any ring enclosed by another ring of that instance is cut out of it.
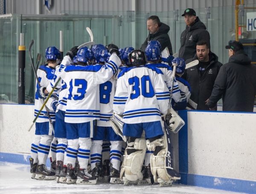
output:
<svg viewBox="0 0 256 194"><path fill-rule="evenodd" d="M205 41L197 43L195 57L186 60L186 64L196 59L199 60L198 65L187 68L183 74L183 78L191 86L188 107L196 110L209 110L206 100L212 93L213 85L222 63L218 62L216 54L209 51ZM217 110L217 106L215 106L215 109Z"/></svg>

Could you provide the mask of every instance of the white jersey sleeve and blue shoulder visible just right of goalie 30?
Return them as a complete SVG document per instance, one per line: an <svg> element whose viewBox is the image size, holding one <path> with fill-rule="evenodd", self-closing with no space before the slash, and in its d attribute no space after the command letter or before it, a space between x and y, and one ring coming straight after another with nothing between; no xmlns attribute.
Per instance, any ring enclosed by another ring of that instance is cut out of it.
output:
<svg viewBox="0 0 256 194"><path fill-rule="evenodd" d="M166 65L164 63L147 63L146 66L153 66L159 68L161 71L163 71L163 75L166 81L166 85L171 90L172 88L172 67L169 65ZM173 89L172 89L172 99L175 102L178 102L180 100L180 88L178 86L178 83L176 79L174 78L173 82Z"/></svg>

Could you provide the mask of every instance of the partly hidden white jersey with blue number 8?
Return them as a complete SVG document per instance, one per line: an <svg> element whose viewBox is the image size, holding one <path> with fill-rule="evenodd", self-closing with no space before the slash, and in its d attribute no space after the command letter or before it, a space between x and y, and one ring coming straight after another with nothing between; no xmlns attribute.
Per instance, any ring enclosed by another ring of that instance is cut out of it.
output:
<svg viewBox="0 0 256 194"><path fill-rule="evenodd" d="M116 79L112 77L99 85L100 120L97 126L111 127L109 119L113 114L113 100L116 91Z"/></svg>

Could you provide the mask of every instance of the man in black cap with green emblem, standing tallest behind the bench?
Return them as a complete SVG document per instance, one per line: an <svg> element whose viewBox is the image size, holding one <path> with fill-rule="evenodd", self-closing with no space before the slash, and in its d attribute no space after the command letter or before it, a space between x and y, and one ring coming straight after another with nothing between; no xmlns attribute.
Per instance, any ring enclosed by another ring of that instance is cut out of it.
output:
<svg viewBox="0 0 256 194"><path fill-rule="evenodd" d="M198 41L204 40L210 48L210 35L206 30L204 23L202 23L198 16L196 16L194 9L186 9L181 16L184 17L186 29L180 36L179 57L186 61L195 56L195 47Z"/></svg>

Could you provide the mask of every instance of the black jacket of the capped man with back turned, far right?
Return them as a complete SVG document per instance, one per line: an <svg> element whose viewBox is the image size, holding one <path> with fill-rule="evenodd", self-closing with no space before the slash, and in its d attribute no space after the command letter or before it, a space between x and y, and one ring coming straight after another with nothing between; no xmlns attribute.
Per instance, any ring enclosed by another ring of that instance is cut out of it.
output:
<svg viewBox="0 0 256 194"><path fill-rule="evenodd" d="M256 66L243 50L237 51L224 64L215 80L207 105L223 100L223 111L253 112L256 95Z"/></svg>

